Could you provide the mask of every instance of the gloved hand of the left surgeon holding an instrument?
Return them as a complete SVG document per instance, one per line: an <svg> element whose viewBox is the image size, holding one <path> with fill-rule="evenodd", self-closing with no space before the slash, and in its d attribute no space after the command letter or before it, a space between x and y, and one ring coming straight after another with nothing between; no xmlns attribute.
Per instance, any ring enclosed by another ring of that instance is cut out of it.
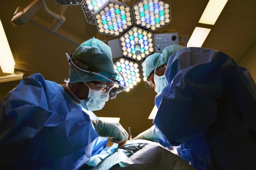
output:
<svg viewBox="0 0 256 170"><path fill-rule="evenodd" d="M100 137L111 138L111 142L118 143L119 147L128 140L128 133L120 123L106 122L103 120L91 120Z"/></svg>

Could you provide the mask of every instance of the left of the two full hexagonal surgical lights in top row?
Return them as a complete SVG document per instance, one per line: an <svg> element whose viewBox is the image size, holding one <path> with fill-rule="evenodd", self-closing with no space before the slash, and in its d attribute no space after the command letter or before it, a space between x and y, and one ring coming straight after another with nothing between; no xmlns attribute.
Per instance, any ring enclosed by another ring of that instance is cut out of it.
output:
<svg viewBox="0 0 256 170"><path fill-rule="evenodd" d="M132 26L131 7L110 0L94 13L99 33L118 36Z"/></svg>

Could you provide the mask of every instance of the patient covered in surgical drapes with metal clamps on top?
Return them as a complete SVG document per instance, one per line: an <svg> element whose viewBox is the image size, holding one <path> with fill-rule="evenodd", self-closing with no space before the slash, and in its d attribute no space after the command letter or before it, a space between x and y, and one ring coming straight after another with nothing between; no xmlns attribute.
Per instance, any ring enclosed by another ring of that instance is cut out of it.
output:
<svg viewBox="0 0 256 170"><path fill-rule="evenodd" d="M148 140L133 140L111 154L98 154L81 169L194 169L162 145Z"/></svg>

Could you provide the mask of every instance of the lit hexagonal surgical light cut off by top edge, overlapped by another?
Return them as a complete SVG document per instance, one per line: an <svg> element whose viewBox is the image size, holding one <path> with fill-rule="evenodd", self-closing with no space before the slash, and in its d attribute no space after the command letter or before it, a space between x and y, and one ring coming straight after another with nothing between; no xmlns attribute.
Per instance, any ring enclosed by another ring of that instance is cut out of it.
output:
<svg viewBox="0 0 256 170"><path fill-rule="evenodd" d="M108 0L85 0L82 2L81 7L88 23L96 24L93 13L106 2Z"/></svg>

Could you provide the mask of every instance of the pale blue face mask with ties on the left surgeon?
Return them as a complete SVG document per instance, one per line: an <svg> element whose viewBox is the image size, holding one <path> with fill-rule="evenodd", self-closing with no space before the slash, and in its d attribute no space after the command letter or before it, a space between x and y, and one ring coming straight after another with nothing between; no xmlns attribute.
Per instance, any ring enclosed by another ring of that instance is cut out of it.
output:
<svg viewBox="0 0 256 170"><path fill-rule="evenodd" d="M104 107L105 102L109 100L109 92L99 92L97 90L92 90L90 89L90 87L85 81L83 81L84 84L86 84L86 86L89 88L88 97L87 99L80 100L70 90L70 88L68 87L68 82L69 80L67 81L67 84L66 84L68 91L80 102L81 106L88 111L101 110Z"/></svg>

